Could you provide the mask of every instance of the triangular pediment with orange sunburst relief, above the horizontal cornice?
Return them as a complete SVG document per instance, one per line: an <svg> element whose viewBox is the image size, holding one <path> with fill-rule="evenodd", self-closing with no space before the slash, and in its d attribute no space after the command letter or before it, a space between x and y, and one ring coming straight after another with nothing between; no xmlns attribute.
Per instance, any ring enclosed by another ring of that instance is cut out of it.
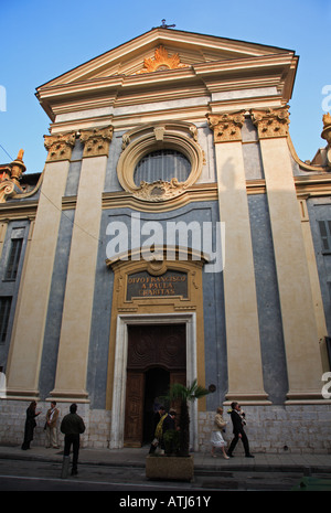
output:
<svg viewBox="0 0 331 513"><path fill-rule="evenodd" d="M293 53L274 46L182 32L151 31L82 64L41 87L73 84L111 76L190 68L199 64Z"/></svg>

